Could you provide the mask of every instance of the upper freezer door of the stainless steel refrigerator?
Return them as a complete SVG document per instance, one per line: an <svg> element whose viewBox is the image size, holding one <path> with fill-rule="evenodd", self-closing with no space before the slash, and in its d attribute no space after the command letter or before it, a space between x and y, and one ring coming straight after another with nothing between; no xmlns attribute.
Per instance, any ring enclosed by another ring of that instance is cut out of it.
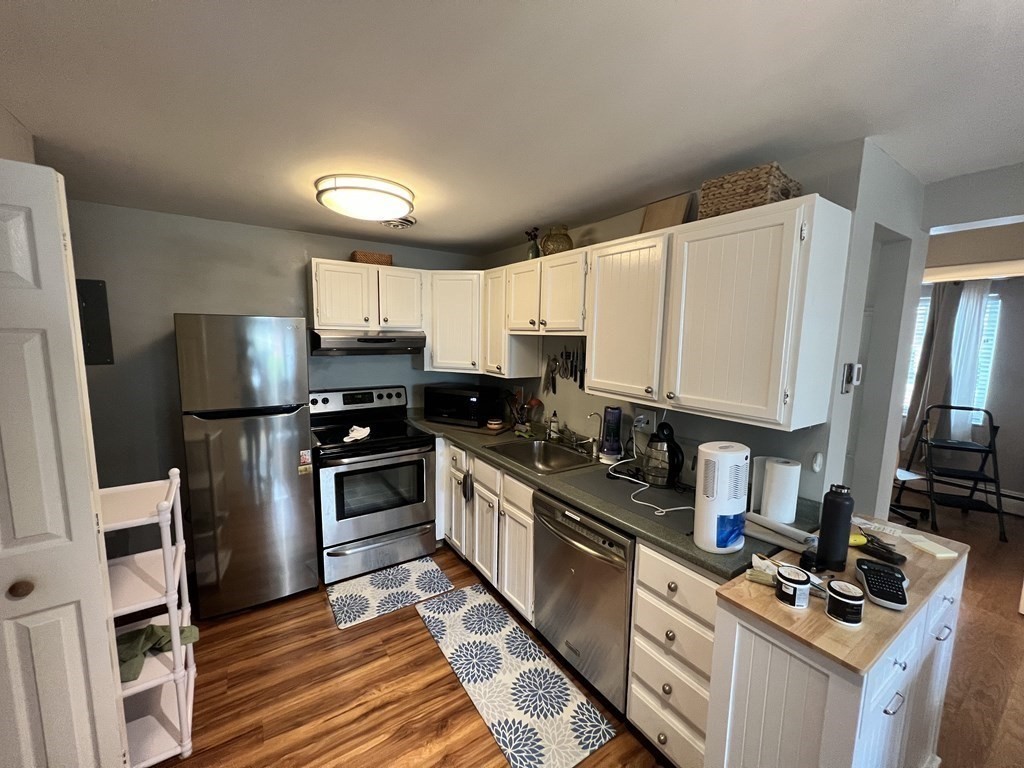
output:
<svg viewBox="0 0 1024 768"><path fill-rule="evenodd" d="M181 411L305 402L305 326L302 317L175 314Z"/></svg>

